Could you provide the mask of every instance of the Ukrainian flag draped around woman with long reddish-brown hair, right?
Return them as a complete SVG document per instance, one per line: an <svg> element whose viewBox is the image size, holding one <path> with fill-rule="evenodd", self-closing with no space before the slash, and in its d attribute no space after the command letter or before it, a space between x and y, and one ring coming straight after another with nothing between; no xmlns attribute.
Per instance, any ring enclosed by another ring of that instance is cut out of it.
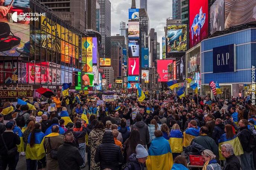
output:
<svg viewBox="0 0 256 170"><path fill-rule="evenodd" d="M234 149L234 154L236 156L244 154L244 151L243 151L242 145L240 143L240 140L239 140L239 138L236 135L234 135L234 137L232 139L227 139L226 134L223 134L220 137L220 139L219 139L219 155L220 155L220 160L225 160L225 158L221 154L221 145L222 144L230 144L230 145L232 145L232 147Z"/></svg>

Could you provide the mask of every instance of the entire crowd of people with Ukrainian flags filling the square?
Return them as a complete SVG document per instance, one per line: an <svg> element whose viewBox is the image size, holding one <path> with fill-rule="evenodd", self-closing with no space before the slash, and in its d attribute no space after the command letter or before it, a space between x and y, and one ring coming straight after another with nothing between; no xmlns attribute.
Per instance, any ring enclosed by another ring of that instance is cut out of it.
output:
<svg viewBox="0 0 256 170"><path fill-rule="evenodd" d="M6 102L0 114L0 166L15 170L186 170L201 155L203 170L254 170L256 106L251 100L186 96L170 100L83 94ZM55 110L49 110L55 103ZM87 154L86 154L87 153Z"/></svg>

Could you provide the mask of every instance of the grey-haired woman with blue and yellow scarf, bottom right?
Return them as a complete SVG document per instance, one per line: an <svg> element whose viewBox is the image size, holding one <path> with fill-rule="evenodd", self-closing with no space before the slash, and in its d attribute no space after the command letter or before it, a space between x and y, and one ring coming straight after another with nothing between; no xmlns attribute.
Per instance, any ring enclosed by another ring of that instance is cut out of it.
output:
<svg viewBox="0 0 256 170"><path fill-rule="evenodd" d="M201 155L205 162L203 170L221 170L221 166L215 160L216 155L211 150L204 150Z"/></svg>

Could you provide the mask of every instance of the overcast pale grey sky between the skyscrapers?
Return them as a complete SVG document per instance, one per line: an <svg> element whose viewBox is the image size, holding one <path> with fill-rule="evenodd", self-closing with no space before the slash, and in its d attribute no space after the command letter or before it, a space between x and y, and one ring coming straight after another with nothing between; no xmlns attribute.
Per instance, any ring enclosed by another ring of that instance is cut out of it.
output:
<svg viewBox="0 0 256 170"><path fill-rule="evenodd" d="M119 23L128 23L128 9L131 8L132 0L110 0L111 1L111 35L119 33ZM148 17L150 29L157 32L157 41L160 42L160 57L162 36L166 18L172 17L172 0L148 0ZM136 0L136 7L140 8L140 0Z"/></svg>

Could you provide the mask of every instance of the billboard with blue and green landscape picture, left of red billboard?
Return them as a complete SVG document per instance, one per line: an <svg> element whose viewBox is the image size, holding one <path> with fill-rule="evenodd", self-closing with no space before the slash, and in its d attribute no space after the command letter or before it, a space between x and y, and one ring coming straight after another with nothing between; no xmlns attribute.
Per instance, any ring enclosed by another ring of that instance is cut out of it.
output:
<svg viewBox="0 0 256 170"><path fill-rule="evenodd" d="M187 25L167 26L167 52L187 50Z"/></svg>

